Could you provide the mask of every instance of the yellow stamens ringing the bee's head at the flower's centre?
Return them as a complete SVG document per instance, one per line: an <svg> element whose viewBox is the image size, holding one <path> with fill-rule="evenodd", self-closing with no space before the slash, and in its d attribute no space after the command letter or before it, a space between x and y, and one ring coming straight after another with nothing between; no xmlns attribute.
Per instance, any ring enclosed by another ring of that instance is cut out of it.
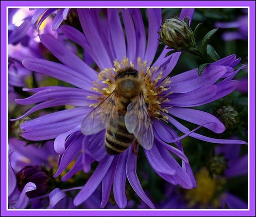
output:
<svg viewBox="0 0 256 217"><path fill-rule="evenodd" d="M164 113L168 113L168 107L163 107L163 103L170 101L168 96L173 93L170 91L170 78L163 79L163 72L159 67L150 67L148 62L142 61L140 57L137 62L131 62L125 57L121 61L115 60L113 65L114 67L105 68L98 74L98 79L93 83L94 87L91 90L101 93L101 97L90 96L90 99L98 100L98 103L90 106L96 107L115 90L115 76L118 71L131 67L139 72L143 81L142 92L149 115L167 122L168 118Z"/></svg>

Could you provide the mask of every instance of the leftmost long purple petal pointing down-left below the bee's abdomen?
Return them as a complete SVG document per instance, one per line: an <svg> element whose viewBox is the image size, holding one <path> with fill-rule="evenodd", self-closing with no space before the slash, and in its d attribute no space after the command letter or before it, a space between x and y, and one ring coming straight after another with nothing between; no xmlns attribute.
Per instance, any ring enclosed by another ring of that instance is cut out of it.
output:
<svg viewBox="0 0 256 217"><path fill-rule="evenodd" d="M99 183L101 183L103 177L110 168L110 165L114 159L114 156L105 156L101 162L99 162L94 173L89 180L85 183L85 186L80 190L76 197L74 197L74 206L79 206L85 200L87 200L91 194L96 190Z"/></svg>

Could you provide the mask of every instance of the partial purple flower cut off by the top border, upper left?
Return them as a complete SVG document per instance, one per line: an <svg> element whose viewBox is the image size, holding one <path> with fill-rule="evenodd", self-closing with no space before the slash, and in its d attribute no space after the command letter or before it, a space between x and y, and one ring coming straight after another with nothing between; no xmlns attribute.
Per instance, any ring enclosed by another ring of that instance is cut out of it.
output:
<svg viewBox="0 0 256 217"><path fill-rule="evenodd" d="M67 19L67 14L70 11L70 8L39 8L36 9L35 14L32 17L32 24L36 24L37 28L40 28L42 22L51 14L55 14L52 23L52 30L55 31L59 28L60 24Z"/></svg>

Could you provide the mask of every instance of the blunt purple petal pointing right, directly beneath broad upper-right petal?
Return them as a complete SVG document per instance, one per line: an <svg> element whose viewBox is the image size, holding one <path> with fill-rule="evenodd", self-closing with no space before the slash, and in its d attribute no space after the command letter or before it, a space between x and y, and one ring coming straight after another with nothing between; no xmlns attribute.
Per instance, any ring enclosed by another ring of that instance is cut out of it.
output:
<svg viewBox="0 0 256 217"><path fill-rule="evenodd" d="M179 106L179 107L193 107L204 104L204 101L207 101L213 98L217 93L217 86L215 85L204 85L199 87L194 91L188 93L174 93L170 95L167 102L167 106ZM164 104L165 106L165 104ZM166 107L167 107L166 106Z"/></svg>

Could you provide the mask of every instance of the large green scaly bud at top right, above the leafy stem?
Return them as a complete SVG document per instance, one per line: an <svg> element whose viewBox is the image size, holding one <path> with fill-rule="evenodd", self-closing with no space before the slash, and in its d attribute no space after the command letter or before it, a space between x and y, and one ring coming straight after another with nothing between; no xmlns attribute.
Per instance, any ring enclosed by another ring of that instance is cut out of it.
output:
<svg viewBox="0 0 256 217"><path fill-rule="evenodd" d="M196 41L193 31L188 24L188 20L185 21L178 17L166 20L161 26L161 31L158 32L160 41L174 50L195 50Z"/></svg>

